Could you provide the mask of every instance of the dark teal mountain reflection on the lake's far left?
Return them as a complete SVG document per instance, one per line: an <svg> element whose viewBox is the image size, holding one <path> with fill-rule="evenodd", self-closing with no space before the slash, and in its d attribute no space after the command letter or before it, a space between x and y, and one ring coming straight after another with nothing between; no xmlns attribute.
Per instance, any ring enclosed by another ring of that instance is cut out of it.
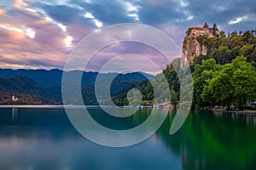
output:
<svg viewBox="0 0 256 170"><path fill-rule="evenodd" d="M62 109L0 108L0 113L0 139L83 139Z"/></svg>

